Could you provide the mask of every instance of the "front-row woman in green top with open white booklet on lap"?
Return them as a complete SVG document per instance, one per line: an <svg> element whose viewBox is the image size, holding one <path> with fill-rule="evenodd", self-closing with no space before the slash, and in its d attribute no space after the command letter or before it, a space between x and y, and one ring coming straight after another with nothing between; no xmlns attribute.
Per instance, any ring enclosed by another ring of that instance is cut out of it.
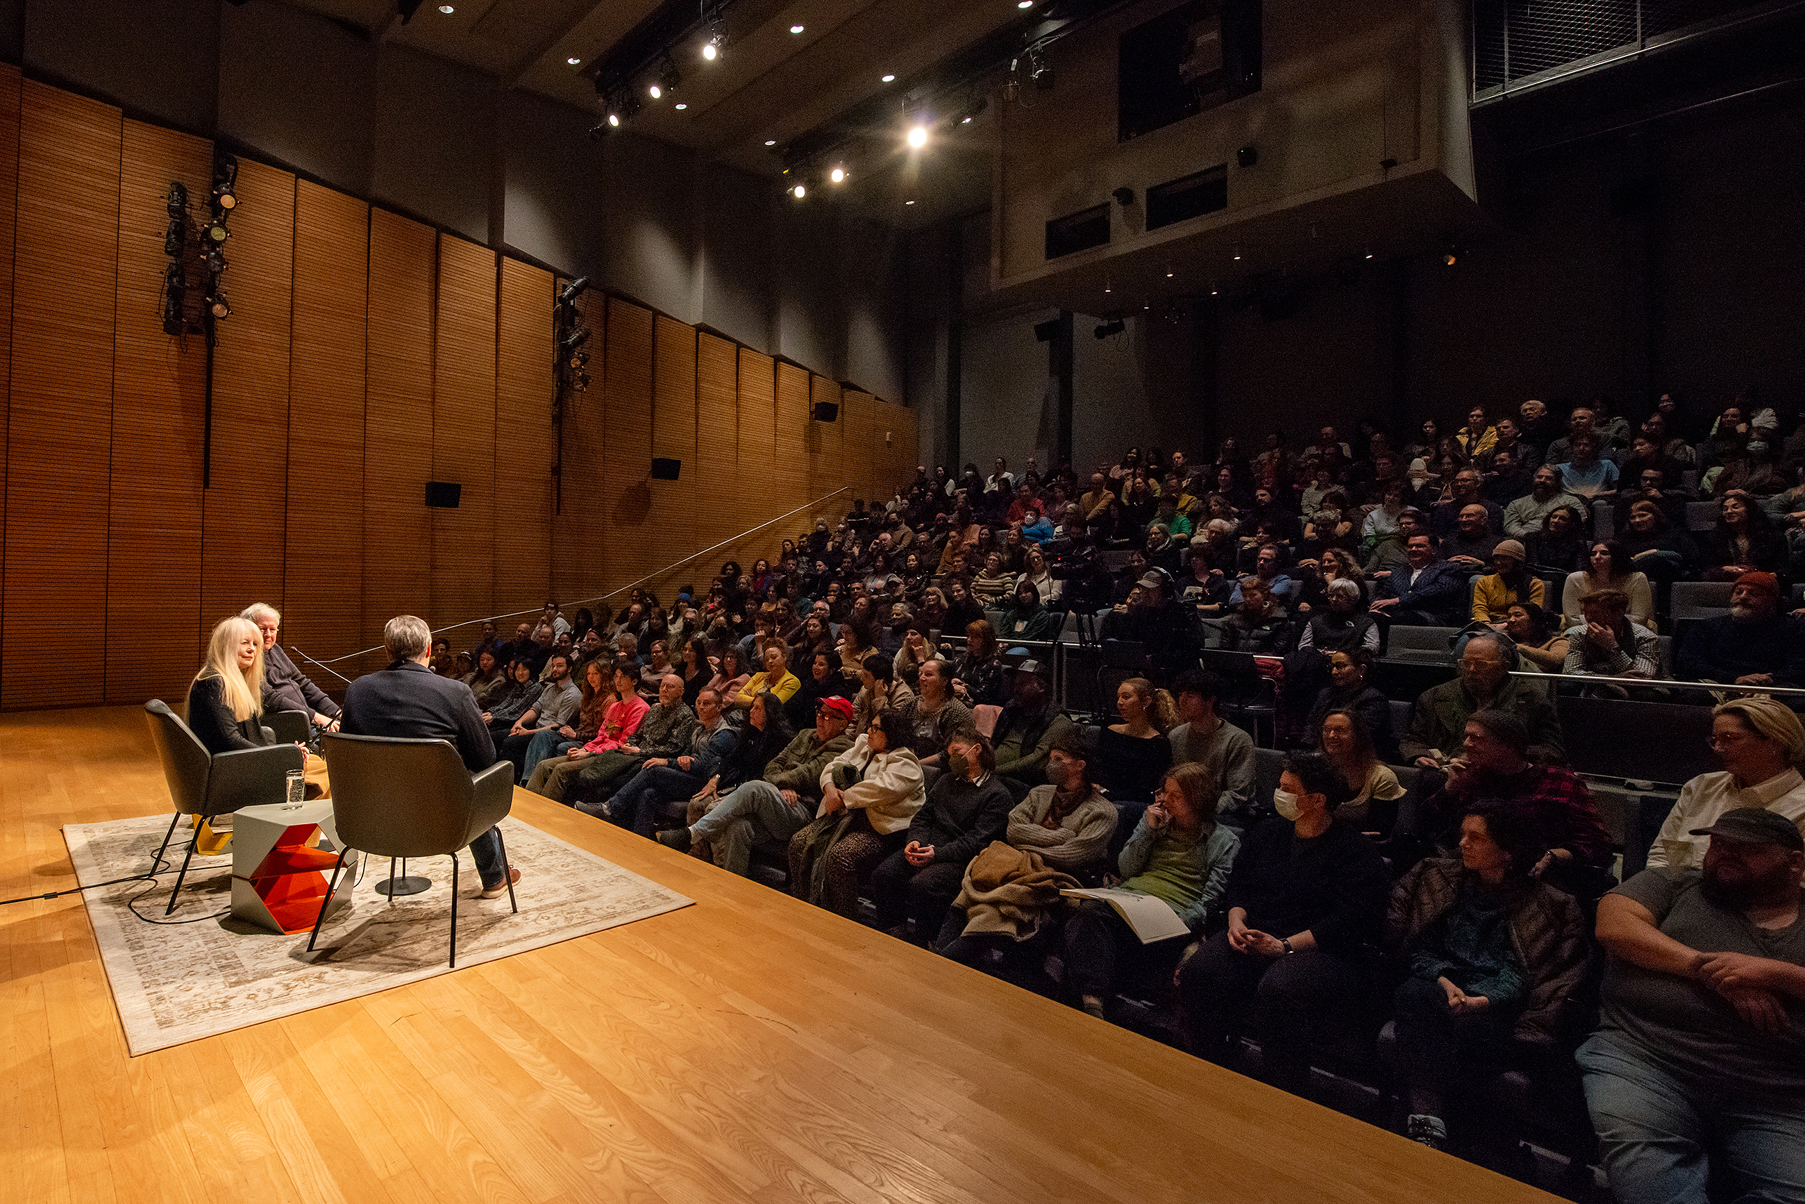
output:
<svg viewBox="0 0 1805 1204"><path fill-rule="evenodd" d="M1222 899L1240 838L1217 823L1218 792L1202 765L1173 765L1117 857L1121 890L1161 899L1184 931L1143 944L1103 899L1085 899L1065 922L1065 971L1092 1016L1103 1018L1103 1000L1128 977L1168 973Z"/></svg>

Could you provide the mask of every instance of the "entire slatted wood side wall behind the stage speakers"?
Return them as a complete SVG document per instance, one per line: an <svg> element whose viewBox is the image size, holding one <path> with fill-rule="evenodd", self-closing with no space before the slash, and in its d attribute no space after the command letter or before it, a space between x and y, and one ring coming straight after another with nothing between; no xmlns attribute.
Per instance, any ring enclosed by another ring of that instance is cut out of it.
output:
<svg viewBox="0 0 1805 1204"><path fill-rule="evenodd" d="M646 574L670 601L810 514L740 533L913 469L906 408L590 289L554 513L551 273L251 159L209 426L202 338L162 332L161 289L170 181L204 217L211 153L0 65L0 708L180 700L251 601L347 675L383 664L339 657L403 610L440 630L547 596L601 614ZM652 482L653 455L680 480ZM458 509L426 509L430 478Z"/></svg>

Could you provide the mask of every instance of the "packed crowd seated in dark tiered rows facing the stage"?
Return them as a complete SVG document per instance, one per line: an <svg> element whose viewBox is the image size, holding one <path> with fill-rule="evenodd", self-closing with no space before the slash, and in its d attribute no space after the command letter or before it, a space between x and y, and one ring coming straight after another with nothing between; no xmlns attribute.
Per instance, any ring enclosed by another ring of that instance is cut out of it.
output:
<svg viewBox="0 0 1805 1204"><path fill-rule="evenodd" d="M1805 727L1758 691L1805 686L1805 421L1563 410L922 468L702 588L547 603L433 671L534 792L1287 1090L1384 1027L1426 1144L1480 1157L1516 1070L1583 1085L1621 1200L1801 1199ZM1724 614L1675 632L1695 579ZM213 679L280 621L245 617L191 699L227 742L251 691ZM1144 666L1094 727L1052 702L1074 623ZM1448 628L1449 666L1402 729L1368 684L1399 626ZM1264 798L1208 648L1269 673L1294 751ZM1713 708L1724 771L1623 884L1550 686ZM1137 897L1175 935L1139 937Z"/></svg>

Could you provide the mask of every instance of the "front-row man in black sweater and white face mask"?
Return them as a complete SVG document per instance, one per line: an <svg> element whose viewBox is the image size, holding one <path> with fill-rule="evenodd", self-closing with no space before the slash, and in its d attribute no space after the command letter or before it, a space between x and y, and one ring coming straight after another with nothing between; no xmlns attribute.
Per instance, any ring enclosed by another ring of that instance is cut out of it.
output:
<svg viewBox="0 0 1805 1204"><path fill-rule="evenodd" d="M1359 1011L1357 949L1384 919L1384 859L1332 816L1350 794L1325 758L1285 762L1273 792L1278 818L1251 829L1235 859L1227 931L1175 978L1199 1056L1226 1063L1251 1022L1267 1081L1294 1094L1309 1081L1310 1038Z"/></svg>

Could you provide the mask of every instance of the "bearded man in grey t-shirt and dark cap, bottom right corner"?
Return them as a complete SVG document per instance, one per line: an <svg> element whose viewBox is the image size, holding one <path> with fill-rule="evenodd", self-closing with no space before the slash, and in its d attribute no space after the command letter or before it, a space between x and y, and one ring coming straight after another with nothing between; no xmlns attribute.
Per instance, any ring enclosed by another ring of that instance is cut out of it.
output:
<svg viewBox="0 0 1805 1204"><path fill-rule="evenodd" d="M1805 1200L1805 839L1736 809L1704 870L1644 870L1605 895L1603 1023L1579 1047L1587 1107L1624 1204Z"/></svg>

